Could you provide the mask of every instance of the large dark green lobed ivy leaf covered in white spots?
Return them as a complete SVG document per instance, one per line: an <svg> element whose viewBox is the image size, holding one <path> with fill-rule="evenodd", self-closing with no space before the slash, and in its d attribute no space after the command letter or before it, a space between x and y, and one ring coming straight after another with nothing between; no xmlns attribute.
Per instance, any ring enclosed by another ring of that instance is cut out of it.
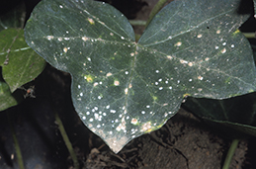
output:
<svg viewBox="0 0 256 169"><path fill-rule="evenodd" d="M221 4L221 5L219 5ZM239 1L174 1L134 42L127 18L91 0L44 0L26 41L72 75L83 123L119 152L132 138L162 127L183 97L229 98L255 91L249 43L237 28Z"/></svg>

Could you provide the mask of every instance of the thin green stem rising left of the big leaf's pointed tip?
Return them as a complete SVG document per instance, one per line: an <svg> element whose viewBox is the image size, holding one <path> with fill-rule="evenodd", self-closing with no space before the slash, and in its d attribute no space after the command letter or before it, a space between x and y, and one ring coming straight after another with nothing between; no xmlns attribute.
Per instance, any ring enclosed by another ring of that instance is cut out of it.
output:
<svg viewBox="0 0 256 169"><path fill-rule="evenodd" d="M69 154L70 154L70 156L71 156L71 158L72 158L72 160L74 162L74 168L75 169L79 169L79 162L78 162L77 157L75 155L75 151L74 151L74 149L72 147L72 144L71 144L71 142L70 142L70 140L69 140L69 138L68 138L68 136L66 134L65 128L64 128L64 126L63 126L63 124L62 124L62 122L61 122L57 112L55 112L55 120L56 120L56 123L58 125L59 130L60 130L60 133L61 133L61 135L63 137L63 140L64 140L64 142L66 144L68 152L69 152Z"/></svg>

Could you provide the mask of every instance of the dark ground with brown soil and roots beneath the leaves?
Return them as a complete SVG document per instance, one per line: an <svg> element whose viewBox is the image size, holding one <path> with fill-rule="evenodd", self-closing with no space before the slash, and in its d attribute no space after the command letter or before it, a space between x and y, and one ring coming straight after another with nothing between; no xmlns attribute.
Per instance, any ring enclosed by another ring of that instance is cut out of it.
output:
<svg viewBox="0 0 256 169"><path fill-rule="evenodd" d="M120 0L119 0L120 1ZM158 0L128 0L129 19L146 20ZM115 3L112 0L112 3ZM121 8L121 10L123 10ZM139 11L139 12L138 12ZM141 34L143 27L134 28ZM71 77L47 65L26 88L35 86L36 98L0 114L0 168L19 168L12 138L16 131L26 169L73 168L56 126L57 113L67 131L82 169L219 169L231 139L180 109L164 127L131 140L118 154L85 127L74 111L70 96ZM9 117L9 118L8 118ZM234 169L256 168L255 138L241 140L231 162Z"/></svg>

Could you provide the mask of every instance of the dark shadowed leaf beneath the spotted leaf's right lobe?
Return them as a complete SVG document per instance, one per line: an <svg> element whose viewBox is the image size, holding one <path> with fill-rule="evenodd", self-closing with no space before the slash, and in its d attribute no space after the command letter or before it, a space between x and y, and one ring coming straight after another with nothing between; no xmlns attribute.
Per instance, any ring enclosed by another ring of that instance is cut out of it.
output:
<svg viewBox="0 0 256 169"><path fill-rule="evenodd" d="M256 136L255 100L256 93L224 100L189 97L183 107L228 137L243 138Z"/></svg>

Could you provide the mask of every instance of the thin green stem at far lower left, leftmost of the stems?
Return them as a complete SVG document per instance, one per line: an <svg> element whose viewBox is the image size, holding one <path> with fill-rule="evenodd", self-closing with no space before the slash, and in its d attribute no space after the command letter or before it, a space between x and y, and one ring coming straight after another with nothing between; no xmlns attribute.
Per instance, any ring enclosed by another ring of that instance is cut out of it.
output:
<svg viewBox="0 0 256 169"><path fill-rule="evenodd" d="M13 140L14 140L14 147L15 147L15 151L16 151L16 155L17 155L17 161L18 161L18 165L20 169L25 169L24 167L24 163L23 163L23 157L22 157L22 152L21 152L21 148L19 145L19 141L18 138L16 136L16 132L13 126L13 121L10 118L9 112L7 111L7 119L8 119L8 123L11 127L12 130L12 136L13 136Z"/></svg>

